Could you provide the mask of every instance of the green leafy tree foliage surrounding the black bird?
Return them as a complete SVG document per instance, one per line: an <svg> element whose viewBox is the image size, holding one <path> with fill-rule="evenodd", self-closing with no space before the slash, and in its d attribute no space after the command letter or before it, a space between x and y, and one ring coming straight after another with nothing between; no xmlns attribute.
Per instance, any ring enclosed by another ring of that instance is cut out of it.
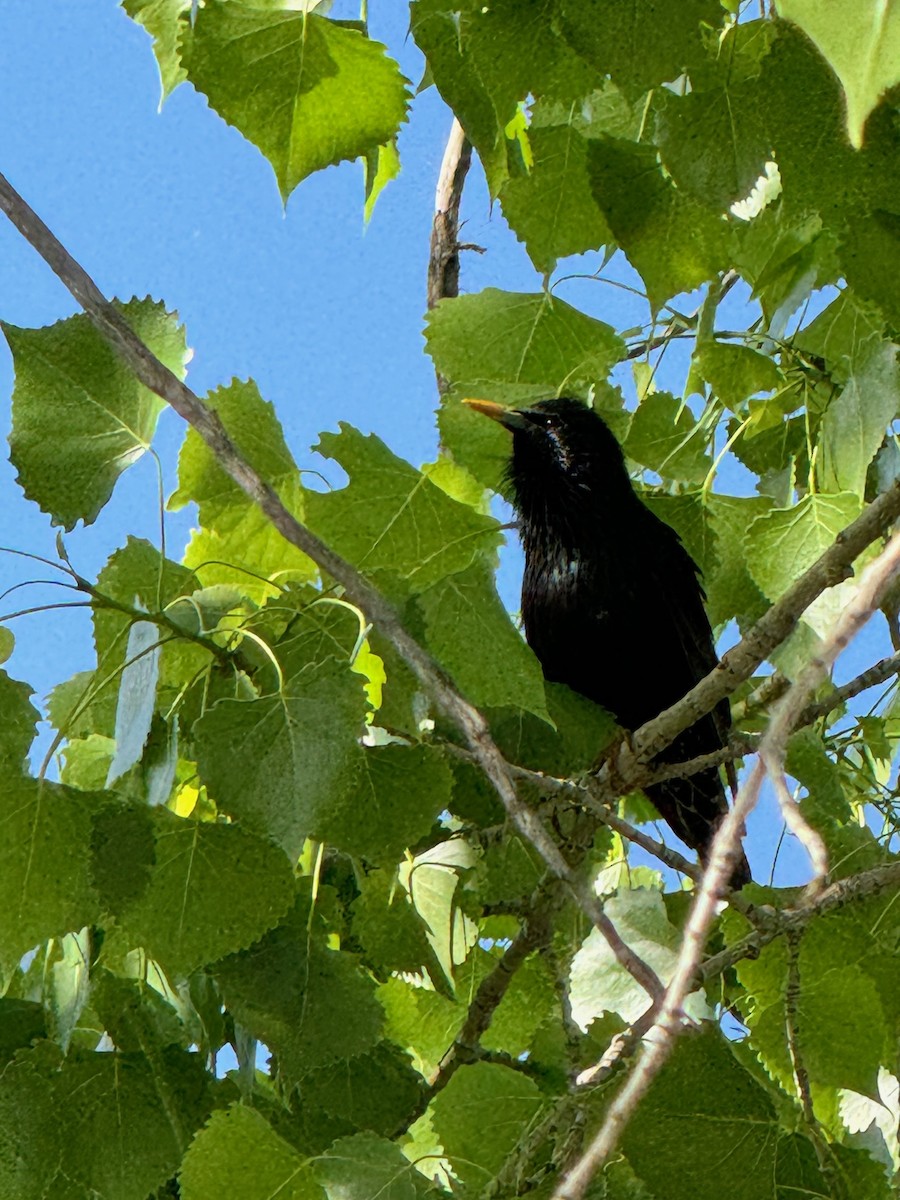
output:
<svg viewBox="0 0 900 1200"><path fill-rule="evenodd" d="M414 102L365 5L360 20L302 0L124 7L152 36L163 96L202 92L283 197L362 158L371 214ZM440 673L430 686L196 430L169 481L170 506L197 511L180 562L128 539L85 580L60 542L96 667L53 691L40 769L41 714L0 670L0 1196L550 1196L601 1126L649 997L504 810L440 689L482 710L545 836L664 983L692 883L664 848L659 869L629 865L653 815L634 787L590 803L582 786L614 722L544 683L497 596L488 499L508 443L461 400L592 403L701 565L720 631L746 632L896 486L900 25L876 0L778 10L413 0L425 82L534 290L448 295L427 314L445 388L442 448L420 469L342 425L318 450L348 482L311 491L252 380L205 401ZM598 280L630 264L644 328L556 295L557 263L582 253ZM721 318L732 288L738 330ZM184 377L164 302L116 305ZM151 448L162 401L86 316L4 331L18 481L54 524L90 524ZM676 343L680 396L654 382ZM736 463L751 482L731 494ZM761 668L734 689L742 746L858 576L826 582L768 655L776 683ZM11 646L0 630L0 658ZM724 906L690 1028L596 1200L893 1194L895 672L876 671L864 712L823 685L793 732L786 769L832 890L757 883ZM222 1072L228 1046L238 1067Z"/></svg>

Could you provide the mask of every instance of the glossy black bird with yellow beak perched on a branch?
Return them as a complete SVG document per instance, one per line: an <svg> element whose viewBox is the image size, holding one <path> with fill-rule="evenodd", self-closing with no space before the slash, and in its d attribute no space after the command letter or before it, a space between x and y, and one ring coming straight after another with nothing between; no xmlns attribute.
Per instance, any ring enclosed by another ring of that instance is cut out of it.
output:
<svg viewBox="0 0 900 1200"><path fill-rule="evenodd" d="M526 569L522 619L544 674L602 704L626 730L668 708L716 662L697 565L646 508L604 420L578 400L521 409L467 400L512 433L506 479ZM660 755L684 762L722 746L727 700ZM715 768L646 788L704 859L727 810ZM732 887L750 880L743 856Z"/></svg>

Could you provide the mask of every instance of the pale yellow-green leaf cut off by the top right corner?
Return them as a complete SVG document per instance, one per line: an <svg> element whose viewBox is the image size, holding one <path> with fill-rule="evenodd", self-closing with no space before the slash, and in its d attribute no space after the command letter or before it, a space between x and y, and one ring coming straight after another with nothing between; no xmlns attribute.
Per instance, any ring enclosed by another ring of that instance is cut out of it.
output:
<svg viewBox="0 0 900 1200"><path fill-rule="evenodd" d="M815 42L847 97L847 133L863 144L866 118L900 83L900 12L880 0L779 0L779 14Z"/></svg>

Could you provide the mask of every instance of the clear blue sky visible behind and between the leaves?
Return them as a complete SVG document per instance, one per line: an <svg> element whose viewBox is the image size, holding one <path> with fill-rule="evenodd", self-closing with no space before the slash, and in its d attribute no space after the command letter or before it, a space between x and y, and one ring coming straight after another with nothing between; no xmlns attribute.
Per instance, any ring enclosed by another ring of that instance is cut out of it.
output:
<svg viewBox="0 0 900 1200"><path fill-rule="evenodd" d="M332 16L356 13L341 0L332 10ZM418 83L422 59L407 37L406 5L372 0L370 26ZM275 403L301 466L322 468L308 446L338 420L378 433L414 463L433 458L437 395L421 329L434 184L451 120L434 89L415 98L400 137L402 174L383 193L368 229L359 163L306 180L284 211L269 164L200 95L182 85L161 113L157 103L149 38L113 0L30 0L0 10L6 118L0 170L107 295L149 293L179 311L194 353L193 389L203 395L233 376L252 376ZM467 184L463 216L464 240L486 250L466 256L463 290L540 287L499 209L491 209L478 168ZM594 256L587 270L596 265ZM565 263L558 275L584 269ZM647 316L642 302L618 288L572 280L558 290L618 328ZM740 295L732 302L740 304ZM43 325L73 311L61 284L0 222L0 317ZM0 394L8 396L11 388L11 359L0 346ZM0 433L8 433L8 403L0 406ZM181 436L178 418L164 413L157 450L167 494ZM337 482L332 463L326 470ZM53 558L55 530L13 478L8 462L0 462L0 542ZM746 488L739 475L727 482ZM167 515L175 557L190 516ZM83 575L96 575L127 533L158 542L150 457L122 478L94 526L67 536L70 557ZM38 574L44 572L0 554L0 590ZM504 600L517 607L515 551L506 556L500 586ZM47 589L29 588L1 607L54 599ZM8 667L38 698L91 666L84 611L26 617L14 632ZM871 647L868 653L871 661ZM780 821L767 806L754 826L752 859L764 877ZM781 882L805 876L797 854L780 865Z"/></svg>

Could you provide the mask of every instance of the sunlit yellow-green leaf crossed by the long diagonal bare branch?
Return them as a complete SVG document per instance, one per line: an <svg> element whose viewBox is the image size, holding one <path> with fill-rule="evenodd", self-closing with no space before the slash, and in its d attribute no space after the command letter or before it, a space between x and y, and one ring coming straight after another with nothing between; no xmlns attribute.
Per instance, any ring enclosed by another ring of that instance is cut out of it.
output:
<svg viewBox="0 0 900 1200"><path fill-rule="evenodd" d="M298 518L305 515L300 472L281 422L253 380L233 379L206 397L244 457ZM191 535L185 565L206 584L229 583L257 602L276 594L268 583L314 580L316 564L286 541L259 506L222 470L199 433L188 430L178 462L178 490L169 508L193 500L199 528ZM262 578L259 578L262 576Z"/></svg>

